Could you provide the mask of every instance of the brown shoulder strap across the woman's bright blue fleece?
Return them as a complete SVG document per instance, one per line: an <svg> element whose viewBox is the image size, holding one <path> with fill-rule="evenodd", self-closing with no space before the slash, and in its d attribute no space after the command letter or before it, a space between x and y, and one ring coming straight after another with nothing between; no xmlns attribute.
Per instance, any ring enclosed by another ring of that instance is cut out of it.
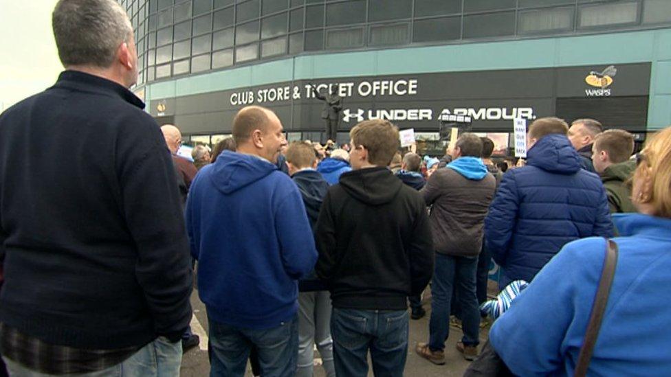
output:
<svg viewBox="0 0 671 377"><path fill-rule="evenodd" d="M599 336L599 329L601 328L601 321L604 318L606 311L606 304L608 304L608 295L610 294L610 286L613 284L613 277L615 277L615 266L617 265L617 244L613 240L606 240L606 260L604 261L604 269L599 280L599 288L597 295L592 304L592 312L589 316L589 324L585 332L585 338L580 348L580 356L578 356L577 365L575 367L574 376L586 376L589 361L592 358L594 345L597 343L597 336Z"/></svg>

